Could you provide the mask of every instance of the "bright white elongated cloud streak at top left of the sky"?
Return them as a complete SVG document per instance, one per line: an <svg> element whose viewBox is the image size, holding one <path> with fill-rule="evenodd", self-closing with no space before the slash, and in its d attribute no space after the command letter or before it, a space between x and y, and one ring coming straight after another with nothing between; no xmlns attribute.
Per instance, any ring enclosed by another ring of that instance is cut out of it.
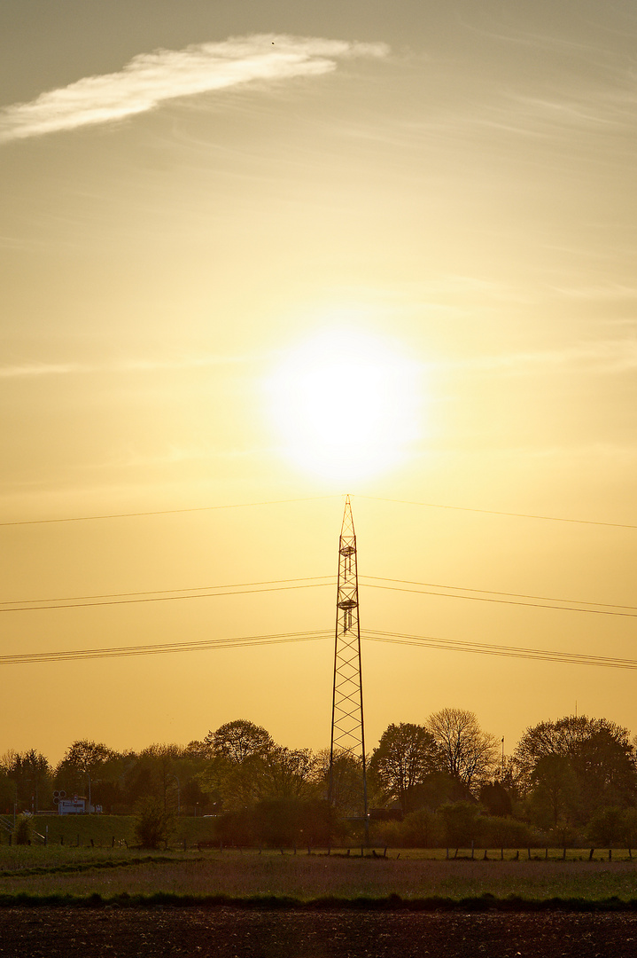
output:
<svg viewBox="0 0 637 958"><path fill-rule="evenodd" d="M78 126L112 123L152 110L165 100L191 97L251 80L316 77L346 57L385 57L383 43L255 34L184 50L140 54L119 73L84 77L40 94L32 103L0 111L0 143Z"/></svg>

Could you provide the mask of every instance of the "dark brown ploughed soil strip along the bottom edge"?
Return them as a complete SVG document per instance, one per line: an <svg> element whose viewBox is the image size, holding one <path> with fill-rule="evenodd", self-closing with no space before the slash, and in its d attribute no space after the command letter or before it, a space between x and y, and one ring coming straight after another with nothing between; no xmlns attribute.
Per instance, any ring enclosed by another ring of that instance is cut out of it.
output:
<svg viewBox="0 0 637 958"><path fill-rule="evenodd" d="M2 958L636 958L637 915L2 908Z"/></svg>

